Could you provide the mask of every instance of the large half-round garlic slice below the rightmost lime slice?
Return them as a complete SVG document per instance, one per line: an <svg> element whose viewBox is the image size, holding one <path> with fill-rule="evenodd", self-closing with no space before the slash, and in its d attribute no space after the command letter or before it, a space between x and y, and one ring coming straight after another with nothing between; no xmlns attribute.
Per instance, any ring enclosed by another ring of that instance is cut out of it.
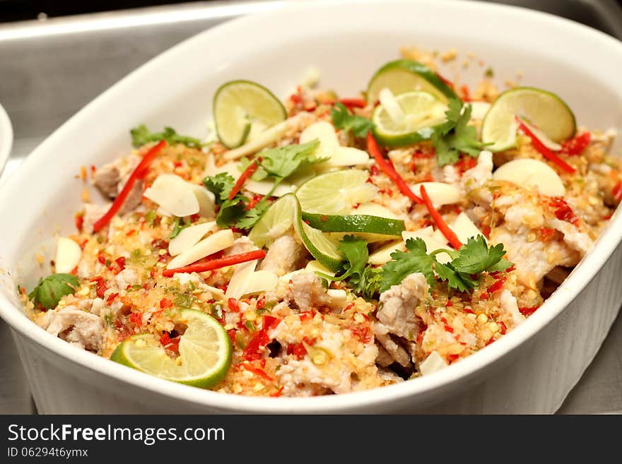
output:
<svg viewBox="0 0 622 464"><path fill-rule="evenodd" d="M565 195L565 187L557 172L545 162L531 158L506 162L493 172L493 179L512 182L526 188L531 187L543 195Z"/></svg>

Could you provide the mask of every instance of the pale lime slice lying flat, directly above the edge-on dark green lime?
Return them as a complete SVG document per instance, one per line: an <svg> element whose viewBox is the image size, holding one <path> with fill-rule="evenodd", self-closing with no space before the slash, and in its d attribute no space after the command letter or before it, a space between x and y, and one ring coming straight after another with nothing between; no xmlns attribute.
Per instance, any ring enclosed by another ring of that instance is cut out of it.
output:
<svg viewBox="0 0 622 464"><path fill-rule="evenodd" d="M295 193L307 213L344 215L376 196L377 188L368 178L369 172L362 169L331 171L308 180Z"/></svg>

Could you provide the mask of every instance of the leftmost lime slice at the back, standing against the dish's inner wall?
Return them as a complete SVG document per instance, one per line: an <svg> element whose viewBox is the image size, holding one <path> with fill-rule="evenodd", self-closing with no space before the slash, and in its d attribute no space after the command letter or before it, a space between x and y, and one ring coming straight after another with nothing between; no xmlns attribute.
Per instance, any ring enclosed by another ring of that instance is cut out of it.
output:
<svg viewBox="0 0 622 464"><path fill-rule="evenodd" d="M225 147L235 148L245 143L251 126L259 129L274 126L287 118L287 112L263 85L252 81L230 81L216 90L213 117L218 139Z"/></svg>

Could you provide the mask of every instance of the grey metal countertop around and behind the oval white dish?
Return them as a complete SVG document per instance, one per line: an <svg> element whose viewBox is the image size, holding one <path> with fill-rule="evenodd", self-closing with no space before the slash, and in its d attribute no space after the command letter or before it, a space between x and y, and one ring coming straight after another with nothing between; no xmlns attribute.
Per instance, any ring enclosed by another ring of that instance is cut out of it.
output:
<svg viewBox="0 0 622 464"><path fill-rule="evenodd" d="M536 3L542 9L547 2ZM581 6L593 7L585 17L589 16L596 26L599 14L604 21L602 8L609 3L548 2L559 8L573 4L574 13ZM60 124L148 59L224 20L282 4L210 1L0 25L0 102L11 117L15 133L0 183ZM611 17L607 17L602 28L611 32L610 25ZM11 333L3 321L0 346L4 349L0 360L0 413L35 412ZM559 412L622 413L622 316L618 316L599 354Z"/></svg>

